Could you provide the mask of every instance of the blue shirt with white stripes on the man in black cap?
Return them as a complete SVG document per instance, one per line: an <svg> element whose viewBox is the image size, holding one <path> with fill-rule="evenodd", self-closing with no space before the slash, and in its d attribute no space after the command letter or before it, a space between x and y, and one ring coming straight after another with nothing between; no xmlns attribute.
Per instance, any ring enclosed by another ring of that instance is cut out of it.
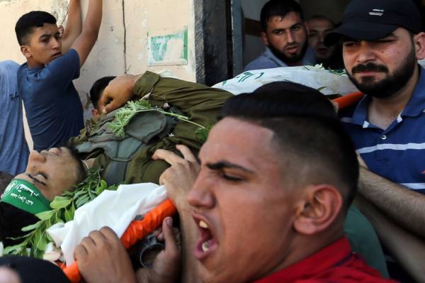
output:
<svg viewBox="0 0 425 283"><path fill-rule="evenodd" d="M397 119L382 130L368 122L370 97L341 111L341 121L369 170L425 194L425 70Z"/></svg>

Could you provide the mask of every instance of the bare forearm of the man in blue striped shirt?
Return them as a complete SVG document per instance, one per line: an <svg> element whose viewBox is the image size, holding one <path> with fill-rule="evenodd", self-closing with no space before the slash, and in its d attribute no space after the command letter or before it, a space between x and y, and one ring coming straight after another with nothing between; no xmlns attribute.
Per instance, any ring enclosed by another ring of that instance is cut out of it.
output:
<svg viewBox="0 0 425 283"><path fill-rule="evenodd" d="M425 196L361 167L358 192L407 231L425 235Z"/></svg>

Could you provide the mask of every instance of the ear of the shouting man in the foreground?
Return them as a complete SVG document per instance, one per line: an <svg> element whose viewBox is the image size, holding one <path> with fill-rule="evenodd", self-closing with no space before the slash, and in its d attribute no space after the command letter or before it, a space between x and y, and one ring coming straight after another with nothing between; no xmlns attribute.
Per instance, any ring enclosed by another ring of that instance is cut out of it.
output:
<svg viewBox="0 0 425 283"><path fill-rule="evenodd" d="M313 235L331 226L341 211L341 193L329 184L310 185L304 201L297 208L294 228L298 233Z"/></svg>

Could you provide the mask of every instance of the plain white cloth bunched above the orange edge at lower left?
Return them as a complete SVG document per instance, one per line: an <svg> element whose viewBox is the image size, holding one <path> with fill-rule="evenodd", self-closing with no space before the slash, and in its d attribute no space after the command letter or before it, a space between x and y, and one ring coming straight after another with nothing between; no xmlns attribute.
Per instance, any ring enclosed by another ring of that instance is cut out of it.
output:
<svg viewBox="0 0 425 283"><path fill-rule="evenodd" d="M75 211L74 220L58 223L47 230L62 249L67 265L74 262L74 249L91 231L110 227L121 237L135 216L145 214L166 199L166 189L152 183L120 185L104 191Z"/></svg>

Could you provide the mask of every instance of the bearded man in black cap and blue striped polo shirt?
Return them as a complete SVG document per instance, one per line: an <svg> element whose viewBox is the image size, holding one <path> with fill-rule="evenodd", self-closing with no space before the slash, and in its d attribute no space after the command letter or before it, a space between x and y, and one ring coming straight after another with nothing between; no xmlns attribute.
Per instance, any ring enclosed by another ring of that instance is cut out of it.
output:
<svg viewBox="0 0 425 283"><path fill-rule="evenodd" d="M420 13L410 0L353 0L325 43L340 38L348 76L366 94L341 113L364 160L360 208L390 253L423 282L417 264L425 255L425 72L416 62L425 57ZM406 278L401 277L412 282Z"/></svg>

